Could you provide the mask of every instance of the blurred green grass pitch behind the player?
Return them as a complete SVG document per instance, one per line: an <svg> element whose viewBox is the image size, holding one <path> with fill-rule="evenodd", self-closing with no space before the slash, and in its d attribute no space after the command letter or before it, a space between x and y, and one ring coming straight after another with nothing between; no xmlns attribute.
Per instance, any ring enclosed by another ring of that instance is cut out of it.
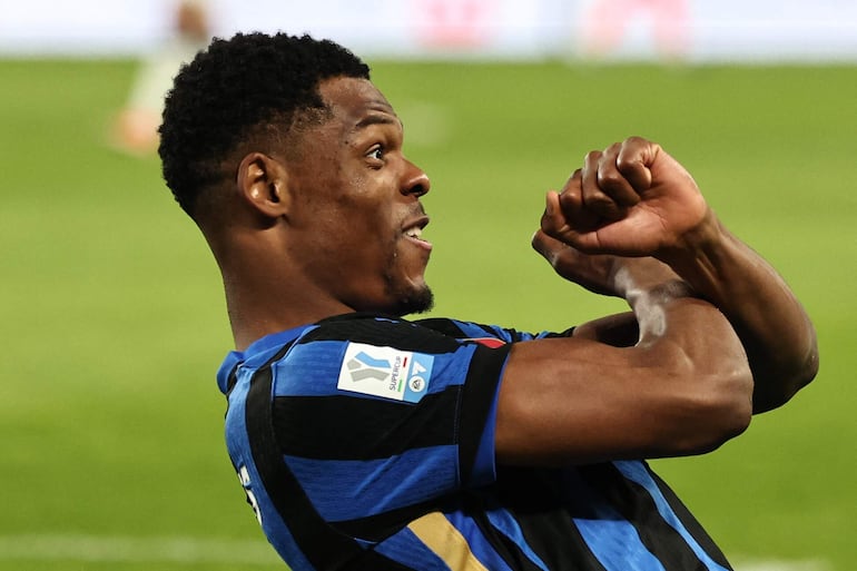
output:
<svg viewBox="0 0 857 571"><path fill-rule="evenodd" d="M854 569L857 68L373 70L432 177L436 315L539 331L622 311L530 250L544 191L629 135L688 167L804 301L821 371L740 439L656 467L739 571ZM157 158L108 145L134 71L0 61L0 570L280 569L223 444L217 268Z"/></svg>

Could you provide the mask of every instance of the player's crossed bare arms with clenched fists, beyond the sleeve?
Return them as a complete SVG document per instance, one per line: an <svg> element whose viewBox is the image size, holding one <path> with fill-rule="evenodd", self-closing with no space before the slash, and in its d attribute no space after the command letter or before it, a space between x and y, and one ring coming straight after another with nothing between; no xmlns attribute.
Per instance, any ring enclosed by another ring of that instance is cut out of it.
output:
<svg viewBox="0 0 857 571"><path fill-rule="evenodd" d="M815 332L794 294L658 145L632 138L589 154L561 194L548 194L533 245L558 274L625 298L633 313L513 347L498 406L501 462L706 452L817 372Z"/></svg>

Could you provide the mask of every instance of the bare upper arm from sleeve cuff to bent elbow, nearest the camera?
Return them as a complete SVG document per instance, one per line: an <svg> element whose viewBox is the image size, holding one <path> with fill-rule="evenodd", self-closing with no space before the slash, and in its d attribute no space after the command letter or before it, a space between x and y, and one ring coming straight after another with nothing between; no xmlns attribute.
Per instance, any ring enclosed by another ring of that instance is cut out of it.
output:
<svg viewBox="0 0 857 571"><path fill-rule="evenodd" d="M698 454L740 433L752 386L728 322L699 301L667 313L662 336L633 346L588 338L585 329L514 344L498 394L498 462ZM592 331L627 335L627 317L609 323L624 325Z"/></svg>

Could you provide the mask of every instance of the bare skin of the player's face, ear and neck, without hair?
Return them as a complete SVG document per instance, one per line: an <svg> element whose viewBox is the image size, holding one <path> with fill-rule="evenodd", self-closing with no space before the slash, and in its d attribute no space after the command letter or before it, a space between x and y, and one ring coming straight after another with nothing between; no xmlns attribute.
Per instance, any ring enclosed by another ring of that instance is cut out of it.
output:
<svg viewBox="0 0 857 571"><path fill-rule="evenodd" d="M333 118L283 148L242 150L226 204L198 217L238 348L331 315L400 313L428 292L431 244L414 234L430 181L402 152L401 121L368 81L321 92Z"/></svg>

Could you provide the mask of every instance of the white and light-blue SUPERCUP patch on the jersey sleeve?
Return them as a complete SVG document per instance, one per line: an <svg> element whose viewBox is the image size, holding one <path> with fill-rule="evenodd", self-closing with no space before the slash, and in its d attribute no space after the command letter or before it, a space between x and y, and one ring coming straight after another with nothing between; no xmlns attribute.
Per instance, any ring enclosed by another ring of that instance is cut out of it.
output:
<svg viewBox="0 0 857 571"><path fill-rule="evenodd" d="M417 403L428 391L433 365L432 355L349 343L336 387L352 393Z"/></svg>

